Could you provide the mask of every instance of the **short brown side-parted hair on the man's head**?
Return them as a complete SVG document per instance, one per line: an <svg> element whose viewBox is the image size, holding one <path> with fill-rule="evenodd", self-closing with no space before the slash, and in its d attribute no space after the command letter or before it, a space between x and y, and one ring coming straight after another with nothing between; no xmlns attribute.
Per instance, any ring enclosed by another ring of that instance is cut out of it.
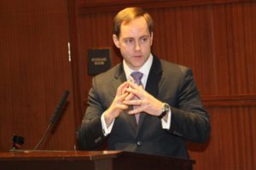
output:
<svg viewBox="0 0 256 170"><path fill-rule="evenodd" d="M116 14L113 19L113 34L119 37L120 27L124 21L125 23L129 23L131 20L141 16L144 17L144 19L147 21L149 32L153 32L153 20L151 16L146 11L144 11L143 8L131 7L125 8Z"/></svg>

